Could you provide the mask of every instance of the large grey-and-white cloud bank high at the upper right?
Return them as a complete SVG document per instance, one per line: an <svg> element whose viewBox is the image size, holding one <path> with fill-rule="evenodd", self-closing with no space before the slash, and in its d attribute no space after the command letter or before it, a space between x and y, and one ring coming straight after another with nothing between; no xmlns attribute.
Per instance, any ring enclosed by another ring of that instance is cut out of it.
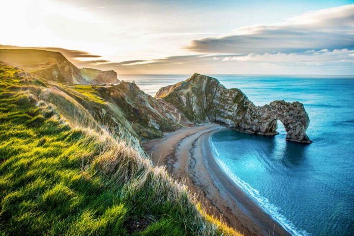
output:
<svg viewBox="0 0 354 236"><path fill-rule="evenodd" d="M223 37L196 39L186 47L199 53L299 53L354 49L354 4L309 12L275 25L244 27Z"/></svg>

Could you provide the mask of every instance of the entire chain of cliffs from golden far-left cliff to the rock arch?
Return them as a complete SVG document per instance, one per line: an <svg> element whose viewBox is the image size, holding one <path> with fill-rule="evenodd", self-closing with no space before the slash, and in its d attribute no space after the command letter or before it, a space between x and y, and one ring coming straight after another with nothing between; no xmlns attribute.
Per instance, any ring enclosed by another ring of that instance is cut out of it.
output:
<svg viewBox="0 0 354 236"><path fill-rule="evenodd" d="M99 123L109 122L115 130L124 127L137 138L158 138L164 132L208 122L240 132L276 135L279 119L287 131L286 140L311 143L306 135L309 118L301 103L273 101L258 107L241 90L226 89L205 75L194 74L161 88L153 98L134 83L120 83L115 71L78 69L59 52L4 49L0 61L47 81L64 83L67 89L61 90L79 99Z"/></svg>

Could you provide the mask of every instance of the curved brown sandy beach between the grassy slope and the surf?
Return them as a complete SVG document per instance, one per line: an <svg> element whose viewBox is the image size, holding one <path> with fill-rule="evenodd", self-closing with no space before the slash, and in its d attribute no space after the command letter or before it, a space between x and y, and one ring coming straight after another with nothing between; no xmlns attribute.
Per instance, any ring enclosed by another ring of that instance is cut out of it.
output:
<svg viewBox="0 0 354 236"><path fill-rule="evenodd" d="M214 160L209 137L222 129L225 127L218 124L184 128L144 142L143 147L155 165L165 165L174 178L184 180L190 191L198 194L208 213L221 217L244 235L290 235Z"/></svg>

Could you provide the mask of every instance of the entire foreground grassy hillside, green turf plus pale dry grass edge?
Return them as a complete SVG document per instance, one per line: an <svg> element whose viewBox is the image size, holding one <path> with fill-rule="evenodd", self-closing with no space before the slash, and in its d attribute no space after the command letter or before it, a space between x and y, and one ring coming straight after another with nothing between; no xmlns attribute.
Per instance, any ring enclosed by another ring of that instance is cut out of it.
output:
<svg viewBox="0 0 354 236"><path fill-rule="evenodd" d="M78 102L107 104L90 89L0 64L0 235L237 235L103 129Z"/></svg>

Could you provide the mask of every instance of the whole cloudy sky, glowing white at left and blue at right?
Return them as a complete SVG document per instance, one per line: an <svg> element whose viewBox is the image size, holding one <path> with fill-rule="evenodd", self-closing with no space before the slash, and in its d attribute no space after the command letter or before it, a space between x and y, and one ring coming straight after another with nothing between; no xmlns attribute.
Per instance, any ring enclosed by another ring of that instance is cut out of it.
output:
<svg viewBox="0 0 354 236"><path fill-rule="evenodd" d="M354 75L354 0L1 0L0 48L118 74Z"/></svg>

